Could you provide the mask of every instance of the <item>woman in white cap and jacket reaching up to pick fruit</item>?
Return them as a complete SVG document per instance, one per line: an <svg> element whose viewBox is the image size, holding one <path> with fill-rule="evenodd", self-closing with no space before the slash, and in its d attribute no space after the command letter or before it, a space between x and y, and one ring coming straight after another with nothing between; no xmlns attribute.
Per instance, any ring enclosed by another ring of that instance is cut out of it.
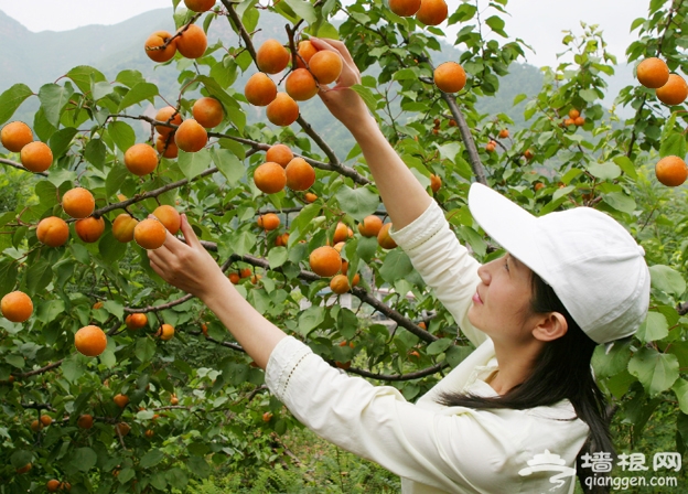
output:
<svg viewBox="0 0 688 494"><path fill-rule="evenodd" d="M389 146L344 71L321 98L361 146L395 225L394 238L476 350L417 404L329 366L265 320L201 246L168 234L152 268L198 297L266 369L270 390L312 430L402 477L406 493L572 493L576 458L591 438L611 451L590 372L596 343L645 318L649 273L625 229L591 208L531 216L480 184L475 221L508 251L480 266L442 211Z"/></svg>

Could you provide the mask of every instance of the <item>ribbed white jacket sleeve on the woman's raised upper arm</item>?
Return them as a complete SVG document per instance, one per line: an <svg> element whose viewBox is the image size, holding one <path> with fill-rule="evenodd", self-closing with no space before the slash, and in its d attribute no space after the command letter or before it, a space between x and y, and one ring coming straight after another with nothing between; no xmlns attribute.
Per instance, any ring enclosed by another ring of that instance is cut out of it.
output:
<svg viewBox="0 0 688 494"><path fill-rule="evenodd" d="M422 279L452 314L459 327L475 346L487 335L467 318L475 288L480 283L480 264L459 243L449 228L442 210L433 201L428 210L391 237L411 259Z"/></svg>

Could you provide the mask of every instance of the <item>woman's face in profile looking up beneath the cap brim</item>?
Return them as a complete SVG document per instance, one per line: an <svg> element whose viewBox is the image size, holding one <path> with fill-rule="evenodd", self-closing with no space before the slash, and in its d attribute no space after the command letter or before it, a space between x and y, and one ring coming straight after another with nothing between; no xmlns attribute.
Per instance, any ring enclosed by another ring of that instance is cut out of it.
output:
<svg viewBox="0 0 688 494"><path fill-rule="evenodd" d="M469 309L469 320L496 341L525 342L531 337L537 314L530 308L533 271L505 254L480 267L481 283Z"/></svg>

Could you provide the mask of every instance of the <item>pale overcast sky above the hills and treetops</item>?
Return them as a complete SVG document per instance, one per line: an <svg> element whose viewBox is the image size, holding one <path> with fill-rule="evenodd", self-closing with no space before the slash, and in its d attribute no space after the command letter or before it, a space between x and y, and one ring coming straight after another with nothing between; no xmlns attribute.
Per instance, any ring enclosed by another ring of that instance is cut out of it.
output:
<svg viewBox="0 0 688 494"><path fill-rule="evenodd" d="M460 0L448 0L450 10ZM582 32L580 21L600 24L609 51L624 60L635 33L631 22L647 14L649 0L510 0L505 31L520 37L536 51L527 62L556 65L562 51L561 31ZM481 0L481 6L487 4ZM0 10L30 31L67 31L88 24L115 24L149 10L171 7L171 0L0 0ZM490 13L492 14L492 13Z"/></svg>

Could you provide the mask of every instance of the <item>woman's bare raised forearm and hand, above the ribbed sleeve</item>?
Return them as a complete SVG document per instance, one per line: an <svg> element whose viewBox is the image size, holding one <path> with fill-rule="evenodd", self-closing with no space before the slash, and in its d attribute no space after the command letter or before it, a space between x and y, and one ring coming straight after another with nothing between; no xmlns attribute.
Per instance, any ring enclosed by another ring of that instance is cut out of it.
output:
<svg viewBox="0 0 688 494"><path fill-rule="evenodd" d="M361 73L344 43L321 39L311 39L311 43L318 50L342 55L344 68L336 86L322 88L320 97L356 139L387 213L395 228L400 229L420 216L432 200L387 141L361 96L351 89L361 83Z"/></svg>

